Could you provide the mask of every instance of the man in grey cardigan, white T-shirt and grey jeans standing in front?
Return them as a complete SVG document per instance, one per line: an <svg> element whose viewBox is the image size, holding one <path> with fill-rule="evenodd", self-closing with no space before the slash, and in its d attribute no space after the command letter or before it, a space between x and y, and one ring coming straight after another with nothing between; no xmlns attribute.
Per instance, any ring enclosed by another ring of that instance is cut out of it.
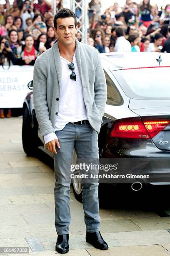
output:
<svg viewBox="0 0 170 256"><path fill-rule="evenodd" d="M53 29L58 41L35 62L33 97L45 146L54 156L55 228L58 235L55 250L67 253L72 154L75 148L79 159L98 159L97 133L102 123L107 89L96 49L80 44L75 38L75 13L60 9L54 16ZM98 183L83 183L82 199L86 241L96 248L107 249L99 232Z"/></svg>

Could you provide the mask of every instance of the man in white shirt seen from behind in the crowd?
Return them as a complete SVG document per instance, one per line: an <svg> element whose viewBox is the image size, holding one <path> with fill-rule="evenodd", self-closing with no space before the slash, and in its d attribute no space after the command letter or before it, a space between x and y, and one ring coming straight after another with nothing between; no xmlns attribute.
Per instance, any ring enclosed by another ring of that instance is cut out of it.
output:
<svg viewBox="0 0 170 256"><path fill-rule="evenodd" d="M116 43L114 52L126 52L132 51L131 44L128 40L125 39L125 32L123 28L117 27L116 28Z"/></svg>

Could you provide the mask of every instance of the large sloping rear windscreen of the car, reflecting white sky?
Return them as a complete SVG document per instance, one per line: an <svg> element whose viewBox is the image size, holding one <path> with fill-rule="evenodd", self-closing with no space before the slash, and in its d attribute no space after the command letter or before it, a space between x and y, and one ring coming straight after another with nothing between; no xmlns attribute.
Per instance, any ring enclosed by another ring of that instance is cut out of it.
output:
<svg viewBox="0 0 170 256"><path fill-rule="evenodd" d="M114 72L122 90L133 99L170 99L170 67Z"/></svg>

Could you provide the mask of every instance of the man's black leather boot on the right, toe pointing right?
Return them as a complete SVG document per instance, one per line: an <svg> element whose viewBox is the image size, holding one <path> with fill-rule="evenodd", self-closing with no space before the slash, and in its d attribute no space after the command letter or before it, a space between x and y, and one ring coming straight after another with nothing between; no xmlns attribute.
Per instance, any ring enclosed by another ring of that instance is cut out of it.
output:
<svg viewBox="0 0 170 256"><path fill-rule="evenodd" d="M106 250L109 248L107 243L102 238L100 231L93 233L86 232L85 239L87 243L91 243L97 249Z"/></svg>

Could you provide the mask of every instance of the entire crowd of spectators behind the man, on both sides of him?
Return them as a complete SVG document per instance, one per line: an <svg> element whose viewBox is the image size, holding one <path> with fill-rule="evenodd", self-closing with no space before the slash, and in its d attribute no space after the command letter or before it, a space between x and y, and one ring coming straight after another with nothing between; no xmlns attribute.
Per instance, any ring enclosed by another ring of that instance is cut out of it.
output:
<svg viewBox="0 0 170 256"><path fill-rule="evenodd" d="M80 2L80 0L77 0ZM63 0L56 0L56 8ZM56 11L57 11L56 10ZM101 1L88 5L87 44L100 53L120 51L170 52L170 4L165 9L143 0L139 5L126 0L120 7L113 2L101 13ZM57 39L53 31L53 6L47 0L8 0L0 5L0 64L34 65L37 56L49 49ZM76 9L80 18L81 10ZM77 39L82 40L80 32ZM167 40L168 39L168 40Z"/></svg>

